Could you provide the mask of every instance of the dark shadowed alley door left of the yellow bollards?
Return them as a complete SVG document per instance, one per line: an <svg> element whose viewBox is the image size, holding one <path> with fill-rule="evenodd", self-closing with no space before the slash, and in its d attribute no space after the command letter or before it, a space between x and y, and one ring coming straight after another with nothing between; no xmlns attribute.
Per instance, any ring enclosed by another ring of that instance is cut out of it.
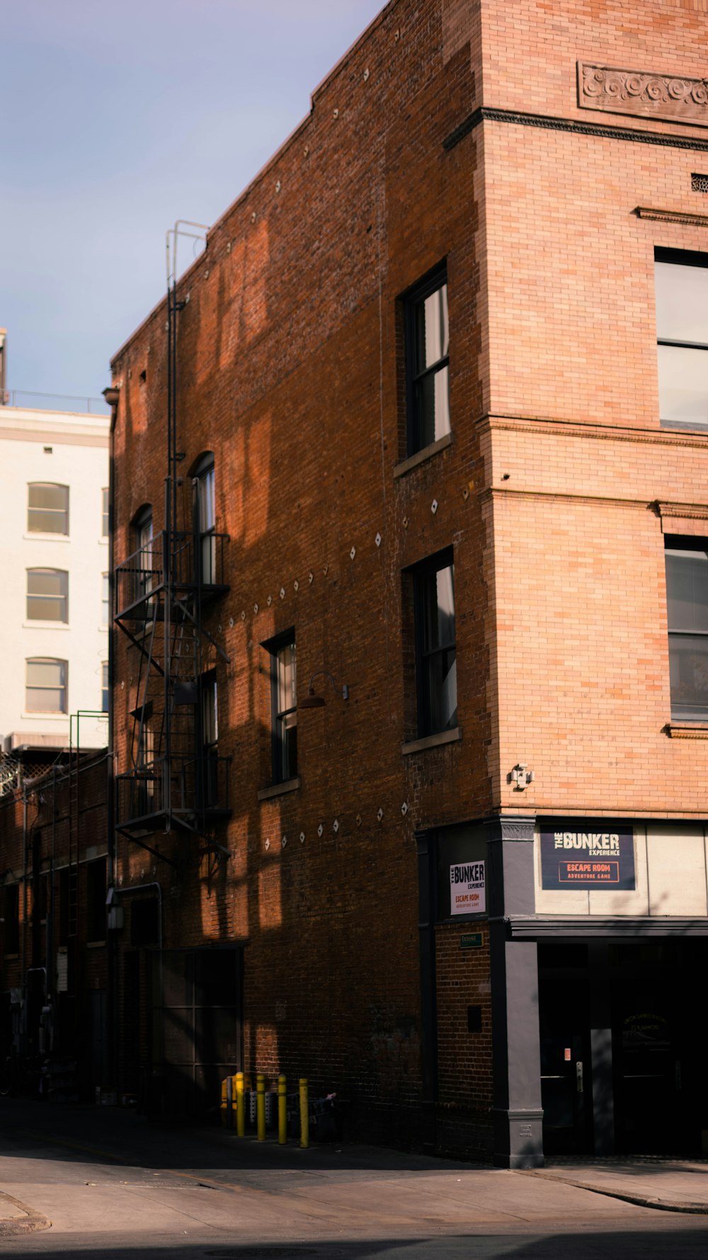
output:
<svg viewBox="0 0 708 1260"><path fill-rule="evenodd" d="M241 949L152 956L152 1110L218 1113L220 1081L242 1065L241 976Z"/></svg>

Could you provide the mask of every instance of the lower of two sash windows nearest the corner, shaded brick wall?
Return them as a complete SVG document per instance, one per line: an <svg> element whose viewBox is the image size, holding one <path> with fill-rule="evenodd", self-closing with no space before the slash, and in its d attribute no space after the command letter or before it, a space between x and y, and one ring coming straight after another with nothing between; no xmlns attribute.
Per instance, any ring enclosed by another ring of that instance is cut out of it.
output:
<svg viewBox="0 0 708 1260"><path fill-rule="evenodd" d="M455 566L451 552L413 570L418 736L457 726Z"/></svg>

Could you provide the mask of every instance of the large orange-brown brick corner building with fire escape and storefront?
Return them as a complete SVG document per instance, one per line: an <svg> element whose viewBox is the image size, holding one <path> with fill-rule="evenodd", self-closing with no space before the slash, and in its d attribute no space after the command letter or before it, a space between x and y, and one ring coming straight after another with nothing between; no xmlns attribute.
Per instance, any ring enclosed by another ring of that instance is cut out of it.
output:
<svg viewBox="0 0 708 1260"><path fill-rule="evenodd" d="M154 1105L705 1143L707 9L393 0L116 355Z"/></svg>

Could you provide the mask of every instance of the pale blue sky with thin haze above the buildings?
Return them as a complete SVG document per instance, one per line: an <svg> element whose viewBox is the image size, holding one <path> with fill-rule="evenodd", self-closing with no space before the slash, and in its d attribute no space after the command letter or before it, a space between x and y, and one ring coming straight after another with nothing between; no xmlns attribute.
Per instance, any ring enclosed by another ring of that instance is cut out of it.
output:
<svg viewBox="0 0 708 1260"><path fill-rule="evenodd" d="M383 6L0 0L10 389L101 393L164 292L166 228L222 214Z"/></svg>

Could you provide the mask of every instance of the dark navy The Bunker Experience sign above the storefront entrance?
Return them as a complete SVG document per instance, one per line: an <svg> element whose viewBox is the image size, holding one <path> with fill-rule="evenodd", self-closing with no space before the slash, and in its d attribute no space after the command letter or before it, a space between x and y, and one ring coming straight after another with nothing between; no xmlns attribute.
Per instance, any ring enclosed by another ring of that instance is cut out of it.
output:
<svg viewBox="0 0 708 1260"><path fill-rule="evenodd" d="M587 825L587 824L586 824ZM634 888L634 832L540 833L542 888Z"/></svg>

